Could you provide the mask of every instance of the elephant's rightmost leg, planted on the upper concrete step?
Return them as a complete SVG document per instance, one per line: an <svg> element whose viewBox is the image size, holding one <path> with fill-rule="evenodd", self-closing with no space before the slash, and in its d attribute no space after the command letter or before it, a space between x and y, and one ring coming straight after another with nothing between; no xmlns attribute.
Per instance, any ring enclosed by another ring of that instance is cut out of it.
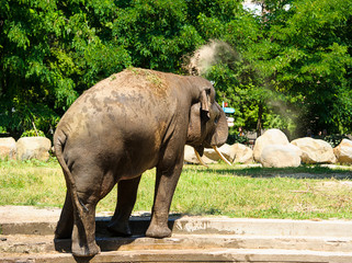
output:
<svg viewBox="0 0 352 263"><path fill-rule="evenodd" d="M157 167L157 180L154 206L151 211L151 221L146 232L150 238L167 238L171 236L171 230L168 227L170 205L174 190L177 187L183 165L182 158L174 165Z"/></svg>

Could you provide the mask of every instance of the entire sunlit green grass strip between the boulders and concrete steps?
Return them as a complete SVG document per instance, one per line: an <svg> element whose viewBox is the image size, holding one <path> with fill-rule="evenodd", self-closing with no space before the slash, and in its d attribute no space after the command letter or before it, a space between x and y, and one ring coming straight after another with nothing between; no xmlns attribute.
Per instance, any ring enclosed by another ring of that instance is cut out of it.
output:
<svg viewBox="0 0 352 263"><path fill-rule="evenodd" d="M141 179L135 210L152 205L155 170ZM352 168L319 165L263 169L213 164L184 165L171 211L251 218L352 219ZM55 160L0 161L0 205L61 207L66 193ZM99 211L113 211L116 187L100 202Z"/></svg>

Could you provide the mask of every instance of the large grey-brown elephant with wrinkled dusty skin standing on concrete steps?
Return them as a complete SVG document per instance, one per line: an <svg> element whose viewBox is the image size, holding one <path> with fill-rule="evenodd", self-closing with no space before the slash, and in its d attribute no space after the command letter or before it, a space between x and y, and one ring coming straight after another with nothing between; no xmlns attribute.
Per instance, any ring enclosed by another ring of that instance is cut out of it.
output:
<svg viewBox="0 0 352 263"><path fill-rule="evenodd" d="M128 69L86 91L66 112L54 135L67 194L56 239L71 238L72 253L90 256L95 243L95 206L118 183L109 229L130 235L128 218L140 175L157 168L147 237L171 236L168 215L183 165L184 145L201 155L222 146L228 127L211 82Z"/></svg>

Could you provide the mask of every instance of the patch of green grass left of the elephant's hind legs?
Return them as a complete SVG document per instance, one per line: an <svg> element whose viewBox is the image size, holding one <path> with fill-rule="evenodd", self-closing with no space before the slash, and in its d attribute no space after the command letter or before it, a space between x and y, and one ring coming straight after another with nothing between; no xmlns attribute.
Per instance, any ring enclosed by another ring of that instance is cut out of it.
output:
<svg viewBox="0 0 352 263"><path fill-rule="evenodd" d="M57 162L0 161L0 205L58 206L66 184Z"/></svg>

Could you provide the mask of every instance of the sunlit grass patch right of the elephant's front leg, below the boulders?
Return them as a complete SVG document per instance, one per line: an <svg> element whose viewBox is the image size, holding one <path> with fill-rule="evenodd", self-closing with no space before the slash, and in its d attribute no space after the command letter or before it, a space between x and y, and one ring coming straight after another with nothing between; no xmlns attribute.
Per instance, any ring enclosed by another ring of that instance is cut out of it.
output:
<svg viewBox="0 0 352 263"><path fill-rule="evenodd" d="M175 195L180 199L173 204L179 206L177 211L254 218L351 218L349 170L337 173L319 167L234 169L225 165L196 169L186 168L181 176ZM336 179L337 174L342 181ZM196 185L200 178L202 185ZM190 201L189 196L193 198Z"/></svg>

